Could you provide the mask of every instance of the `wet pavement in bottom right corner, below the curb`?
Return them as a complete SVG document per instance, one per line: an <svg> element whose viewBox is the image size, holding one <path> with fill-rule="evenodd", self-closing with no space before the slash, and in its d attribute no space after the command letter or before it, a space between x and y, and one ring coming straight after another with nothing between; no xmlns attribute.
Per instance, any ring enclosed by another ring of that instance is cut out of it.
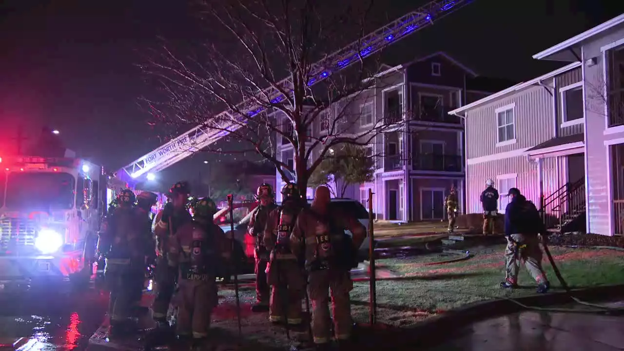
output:
<svg viewBox="0 0 624 351"><path fill-rule="evenodd" d="M427 351L624 350L624 317L520 312L475 322Z"/></svg>

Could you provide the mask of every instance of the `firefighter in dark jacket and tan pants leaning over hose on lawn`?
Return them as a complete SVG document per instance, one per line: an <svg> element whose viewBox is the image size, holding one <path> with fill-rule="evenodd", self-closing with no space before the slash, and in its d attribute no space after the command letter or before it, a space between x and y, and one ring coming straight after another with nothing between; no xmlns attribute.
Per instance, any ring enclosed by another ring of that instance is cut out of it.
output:
<svg viewBox="0 0 624 351"><path fill-rule="evenodd" d="M509 189L512 197L505 209L505 266L507 277L500 283L501 287L513 289L518 282L518 260L524 262L529 274L537 282L537 292L544 294L550 284L542 269L542 249L538 235L545 232L544 222L533 204L527 200L520 190Z"/></svg>

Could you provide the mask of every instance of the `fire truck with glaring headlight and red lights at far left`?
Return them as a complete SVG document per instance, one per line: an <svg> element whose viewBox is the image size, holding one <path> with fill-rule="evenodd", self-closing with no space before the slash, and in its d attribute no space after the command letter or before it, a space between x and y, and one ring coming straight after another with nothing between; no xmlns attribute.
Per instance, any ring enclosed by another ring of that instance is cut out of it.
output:
<svg viewBox="0 0 624 351"><path fill-rule="evenodd" d="M108 177L89 161L0 159L0 293L39 282L88 282L108 198Z"/></svg>

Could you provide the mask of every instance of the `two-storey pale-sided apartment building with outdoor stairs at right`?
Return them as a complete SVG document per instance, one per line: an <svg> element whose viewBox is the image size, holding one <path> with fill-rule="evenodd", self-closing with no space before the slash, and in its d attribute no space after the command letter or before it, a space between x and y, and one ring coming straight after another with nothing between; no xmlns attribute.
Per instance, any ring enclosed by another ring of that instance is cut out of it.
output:
<svg viewBox="0 0 624 351"><path fill-rule="evenodd" d="M482 178L497 177L561 224L622 235L624 15L533 57L566 66L449 112L467 121L469 210Z"/></svg>

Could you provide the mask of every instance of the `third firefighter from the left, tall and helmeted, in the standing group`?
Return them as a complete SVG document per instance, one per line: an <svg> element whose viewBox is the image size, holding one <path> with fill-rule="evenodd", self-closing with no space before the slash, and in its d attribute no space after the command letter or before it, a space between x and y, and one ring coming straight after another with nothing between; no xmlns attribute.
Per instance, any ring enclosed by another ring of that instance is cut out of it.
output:
<svg viewBox="0 0 624 351"><path fill-rule="evenodd" d="M154 229L158 259L154 272L156 298L152 305L152 317L160 327L167 327L167 312L175 290L177 267L170 264L167 253L170 237L183 224L190 222L191 215L187 210L190 187L187 182L177 182L169 190L170 202L158 212L154 221Z"/></svg>

